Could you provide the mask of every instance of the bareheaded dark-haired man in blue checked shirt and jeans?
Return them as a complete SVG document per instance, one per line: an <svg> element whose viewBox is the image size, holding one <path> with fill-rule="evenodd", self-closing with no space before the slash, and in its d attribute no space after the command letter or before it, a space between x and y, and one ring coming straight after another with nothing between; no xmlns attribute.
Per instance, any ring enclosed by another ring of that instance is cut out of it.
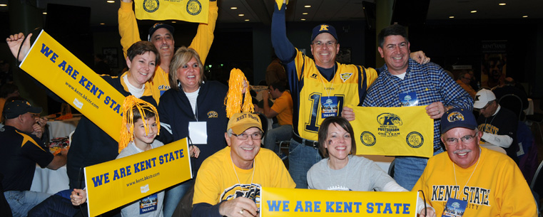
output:
<svg viewBox="0 0 543 217"><path fill-rule="evenodd" d="M435 63L421 65L412 60L407 31L400 25L383 28L377 37L379 53L385 59L379 78L367 90L363 106L426 106L434 120L434 155L443 152L440 144L440 118L453 107L472 110L473 99L460 88L445 70ZM348 120L348 119L347 119ZM427 158L396 157L394 179L407 190L412 189L425 169Z"/></svg>

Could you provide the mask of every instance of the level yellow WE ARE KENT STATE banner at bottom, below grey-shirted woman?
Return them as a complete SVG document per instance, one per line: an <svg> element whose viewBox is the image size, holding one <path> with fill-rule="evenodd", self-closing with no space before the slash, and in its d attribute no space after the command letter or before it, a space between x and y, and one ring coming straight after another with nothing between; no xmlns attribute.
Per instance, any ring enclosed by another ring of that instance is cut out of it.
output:
<svg viewBox="0 0 543 217"><path fill-rule="evenodd" d="M416 216L418 192L262 188L261 216Z"/></svg>

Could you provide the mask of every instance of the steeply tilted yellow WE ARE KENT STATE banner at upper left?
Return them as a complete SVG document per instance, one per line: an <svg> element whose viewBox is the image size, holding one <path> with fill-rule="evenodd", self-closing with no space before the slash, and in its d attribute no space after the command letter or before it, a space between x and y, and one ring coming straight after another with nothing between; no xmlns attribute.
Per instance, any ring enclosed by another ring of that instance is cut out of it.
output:
<svg viewBox="0 0 543 217"><path fill-rule="evenodd" d="M124 96L48 33L39 33L19 67L118 141Z"/></svg>

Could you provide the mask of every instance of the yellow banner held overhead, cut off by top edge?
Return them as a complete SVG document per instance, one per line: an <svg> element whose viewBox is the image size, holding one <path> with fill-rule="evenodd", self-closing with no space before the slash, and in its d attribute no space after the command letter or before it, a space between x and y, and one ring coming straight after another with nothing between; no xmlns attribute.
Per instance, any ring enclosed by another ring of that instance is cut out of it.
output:
<svg viewBox="0 0 543 217"><path fill-rule="evenodd" d="M209 0L134 0L136 18L208 23Z"/></svg>

